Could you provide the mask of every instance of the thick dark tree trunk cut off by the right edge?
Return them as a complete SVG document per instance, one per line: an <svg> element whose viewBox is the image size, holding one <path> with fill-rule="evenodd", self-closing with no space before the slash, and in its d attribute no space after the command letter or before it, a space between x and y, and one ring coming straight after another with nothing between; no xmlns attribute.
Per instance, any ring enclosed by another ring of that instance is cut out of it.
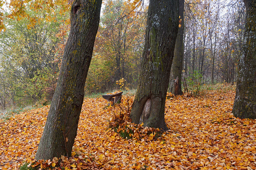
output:
<svg viewBox="0 0 256 170"><path fill-rule="evenodd" d="M233 114L239 118L256 118L256 0L244 0L246 25L244 49L238 68Z"/></svg>

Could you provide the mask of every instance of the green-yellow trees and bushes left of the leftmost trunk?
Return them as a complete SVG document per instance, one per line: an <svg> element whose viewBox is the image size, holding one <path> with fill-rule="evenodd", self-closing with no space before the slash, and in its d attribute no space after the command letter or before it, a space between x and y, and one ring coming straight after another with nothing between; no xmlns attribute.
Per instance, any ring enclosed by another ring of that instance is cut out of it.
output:
<svg viewBox="0 0 256 170"><path fill-rule="evenodd" d="M34 25L27 18L6 18L4 24L8 27L0 34L0 106L3 109L44 99L50 101L58 77L61 52L56 52L59 50L56 46L62 39L57 34L65 17L57 14L54 20L48 20L45 11L24 10L30 17L37 17Z"/></svg>

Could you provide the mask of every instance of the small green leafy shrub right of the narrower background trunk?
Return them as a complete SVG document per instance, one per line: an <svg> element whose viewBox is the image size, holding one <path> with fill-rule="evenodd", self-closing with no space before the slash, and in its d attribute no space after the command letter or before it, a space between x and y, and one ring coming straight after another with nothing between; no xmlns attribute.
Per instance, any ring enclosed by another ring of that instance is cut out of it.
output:
<svg viewBox="0 0 256 170"><path fill-rule="evenodd" d="M188 90L191 90L191 93L195 96L200 95L202 88L202 74L199 72L199 70L194 70L194 72L186 79L188 83Z"/></svg>

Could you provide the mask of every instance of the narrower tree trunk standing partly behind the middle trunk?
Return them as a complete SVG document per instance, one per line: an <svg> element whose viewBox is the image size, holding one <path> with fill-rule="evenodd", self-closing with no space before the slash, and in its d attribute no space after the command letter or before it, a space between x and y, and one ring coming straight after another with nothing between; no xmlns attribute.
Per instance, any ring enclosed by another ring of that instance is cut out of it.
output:
<svg viewBox="0 0 256 170"><path fill-rule="evenodd" d="M181 90L181 73L183 67L183 34L184 34L184 0L179 0L179 29L175 43L174 56L172 60L171 75L170 75L170 92L174 95L182 95ZM178 84L175 83L179 79ZM174 80L176 79L176 80Z"/></svg>

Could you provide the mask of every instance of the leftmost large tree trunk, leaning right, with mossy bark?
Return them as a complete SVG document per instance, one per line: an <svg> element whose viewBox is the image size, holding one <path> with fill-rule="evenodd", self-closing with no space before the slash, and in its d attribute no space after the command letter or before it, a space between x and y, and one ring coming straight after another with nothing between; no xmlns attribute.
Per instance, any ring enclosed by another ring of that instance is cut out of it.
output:
<svg viewBox="0 0 256 170"><path fill-rule="evenodd" d="M58 84L36 158L71 156L84 100L84 84L100 21L101 0L74 0Z"/></svg>

